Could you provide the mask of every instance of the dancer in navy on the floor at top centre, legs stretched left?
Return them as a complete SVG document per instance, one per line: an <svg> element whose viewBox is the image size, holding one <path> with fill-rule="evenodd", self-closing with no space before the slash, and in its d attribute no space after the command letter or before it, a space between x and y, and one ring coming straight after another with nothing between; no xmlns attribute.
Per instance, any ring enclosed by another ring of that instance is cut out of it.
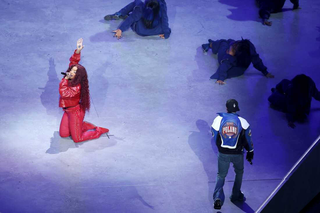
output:
<svg viewBox="0 0 320 213"><path fill-rule="evenodd" d="M160 38L167 39L170 36L167 16L167 4L164 0L140 0L128 4L119 12L106 15L105 20L125 19L119 29L113 30L117 39L122 37L122 32L130 26L134 32L141 36L159 35Z"/></svg>

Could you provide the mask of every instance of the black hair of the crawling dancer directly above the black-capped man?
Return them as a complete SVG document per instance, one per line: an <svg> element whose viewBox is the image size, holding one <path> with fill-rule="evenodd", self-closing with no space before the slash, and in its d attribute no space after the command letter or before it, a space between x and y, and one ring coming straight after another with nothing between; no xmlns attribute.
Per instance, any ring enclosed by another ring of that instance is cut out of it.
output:
<svg viewBox="0 0 320 213"><path fill-rule="evenodd" d="M250 41L242 38L242 40L236 41L231 45L236 53L237 66L249 67L251 63Z"/></svg>

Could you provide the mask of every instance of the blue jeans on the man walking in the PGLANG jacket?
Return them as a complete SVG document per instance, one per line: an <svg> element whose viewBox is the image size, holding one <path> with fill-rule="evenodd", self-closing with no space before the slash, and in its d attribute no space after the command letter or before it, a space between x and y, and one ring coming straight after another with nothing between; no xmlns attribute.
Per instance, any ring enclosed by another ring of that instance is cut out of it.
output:
<svg viewBox="0 0 320 213"><path fill-rule="evenodd" d="M216 187L213 193L213 200L217 198L221 200L221 206L223 205L225 196L223 193L224 179L228 174L228 169L230 162L233 163L233 168L235 169L236 177L232 188L232 194L230 196L231 201L236 201L243 198L243 193L241 193L240 188L242 184L242 176L244 170L243 164L243 154L218 154L218 175L216 178Z"/></svg>

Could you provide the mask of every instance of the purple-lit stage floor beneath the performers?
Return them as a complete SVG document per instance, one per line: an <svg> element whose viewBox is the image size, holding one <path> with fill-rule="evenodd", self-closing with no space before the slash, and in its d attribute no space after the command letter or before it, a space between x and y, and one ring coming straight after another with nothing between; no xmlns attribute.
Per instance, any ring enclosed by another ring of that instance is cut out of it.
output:
<svg viewBox="0 0 320 213"><path fill-rule="evenodd" d="M254 0L167 0L169 39L130 29L118 41L111 31L121 20L103 17L129 2L0 1L0 212L217 212L210 126L235 98L254 160L245 162L246 201L236 205L230 166L220 212L252 213L319 135L319 102L291 129L267 100L281 79L301 73L320 89L319 1L273 14L267 27ZM241 36L275 78L251 65L220 86L210 80L217 56L201 44ZM114 136L75 144L59 136L58 86L80 37L92 101L85 120Z"/></svg>

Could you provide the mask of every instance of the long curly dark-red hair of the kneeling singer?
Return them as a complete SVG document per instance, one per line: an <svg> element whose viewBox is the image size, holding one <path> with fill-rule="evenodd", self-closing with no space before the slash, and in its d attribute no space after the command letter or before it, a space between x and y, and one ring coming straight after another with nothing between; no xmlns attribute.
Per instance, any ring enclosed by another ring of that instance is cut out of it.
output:
<svg viewBox="0 0 320 213"><path fill-rule="evenodd" d="M90 110L90 92L89 92L89 82L87 71L80 64L71 65L66 72L70 72L72 67L77 67L76 77L68 81L68 86L74 87L78 84L81 85L81 95L80 95L80 108L83 111Z"/></svg>

